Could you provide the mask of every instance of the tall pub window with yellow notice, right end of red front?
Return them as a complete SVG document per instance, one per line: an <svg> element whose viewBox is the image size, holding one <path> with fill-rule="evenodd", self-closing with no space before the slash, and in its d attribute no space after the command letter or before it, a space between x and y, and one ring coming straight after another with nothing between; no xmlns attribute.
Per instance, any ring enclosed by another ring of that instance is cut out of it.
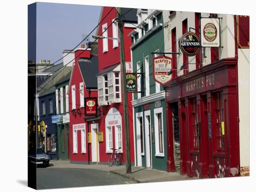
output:
<svg viewBox="0 0 256 192"><path fill-rule="evenodd" d="M215 94L215 110L216 110L216 129L217 129L217 149L224 150L224 110L223 110L223 93Z"/></svg>

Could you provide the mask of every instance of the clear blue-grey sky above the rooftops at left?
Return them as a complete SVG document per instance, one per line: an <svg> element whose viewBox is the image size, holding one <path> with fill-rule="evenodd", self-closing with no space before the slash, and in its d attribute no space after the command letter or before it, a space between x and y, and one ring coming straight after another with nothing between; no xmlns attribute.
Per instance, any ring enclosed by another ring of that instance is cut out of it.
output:
<svg viewBox="0 0 256 192"><path fill-rule="evenodd" d="M73 49L99 22L101 6L38 2L36 5L36 60L59 60L63 50ZM93 41L92 35L88 37ZM62 59L57 62L61 63Z"/></svg>

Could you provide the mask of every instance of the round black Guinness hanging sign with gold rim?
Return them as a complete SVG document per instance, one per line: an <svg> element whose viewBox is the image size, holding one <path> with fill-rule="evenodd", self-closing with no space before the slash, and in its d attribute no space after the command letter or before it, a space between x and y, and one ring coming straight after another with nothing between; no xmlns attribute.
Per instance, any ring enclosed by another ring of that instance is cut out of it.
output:
<svg viewBox="0 0 256 192"><path fill-rule="evenodd" d="M185 55L194 56L200 50L200 40L194 32L186 32L180 39L180 47Z"/></svg>

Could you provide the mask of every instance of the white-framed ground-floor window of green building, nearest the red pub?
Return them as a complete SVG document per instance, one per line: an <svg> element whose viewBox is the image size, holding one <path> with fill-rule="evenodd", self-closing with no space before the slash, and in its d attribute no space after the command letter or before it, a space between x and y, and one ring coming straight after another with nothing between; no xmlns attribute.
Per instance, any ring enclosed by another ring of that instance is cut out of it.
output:
<svg viewBox="0 0 256 192"><path fill-rule="evenodd" d="M162 108L154 109L155 116L155 156L164 156Z"/></svg>

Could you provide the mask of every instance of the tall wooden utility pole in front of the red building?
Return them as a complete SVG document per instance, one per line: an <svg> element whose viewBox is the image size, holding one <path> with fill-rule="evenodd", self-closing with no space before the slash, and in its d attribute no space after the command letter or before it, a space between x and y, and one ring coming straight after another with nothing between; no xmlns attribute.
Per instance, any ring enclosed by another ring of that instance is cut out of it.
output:
<svg viewBox="0 0 256 192"><path fill-rule="evenodd" d="M118 35L120 48L120 64L121 64L121 83L122 83L122 99L124 111L124 129L125 129L125 143L126 143L126 173L132 173L131 167L131 151L130 151L130 132L128 121L128 104L127 104L127 89L126 89L126 66L124 56L124 40L123 40L123 19L122 10L120 7L116 8L118 16Z"/></svg>

